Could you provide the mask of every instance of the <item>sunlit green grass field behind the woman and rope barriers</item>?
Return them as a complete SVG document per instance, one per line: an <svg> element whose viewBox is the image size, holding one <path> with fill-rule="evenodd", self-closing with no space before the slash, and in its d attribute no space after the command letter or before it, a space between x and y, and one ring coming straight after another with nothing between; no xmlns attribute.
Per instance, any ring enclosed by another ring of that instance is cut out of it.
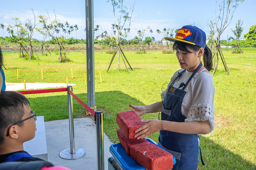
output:
<svg viewBox="0 0 256 170"><path fill-rule="evenodd" d="M201 149L205 166L199 162L198 169L256 169L256 51L243 48L243 54L231 54L223 49L230 75L220 60L213 81L215 85L215 130L201 136ZM98 110L104 112L104 131L117 143L116 113L129 109L129 104L148 105L160 101L161 87L169 82L173 73L180 69L175 54L162 51L147 51L136 54L124 51L133 70L127 73L120 56L120 70L117 70L117 56L106 73L112 55L95 51L95 102ZM70 63L58 63L58 55L40 55L40 60L23 60L18 53L4 53L4 65L9 70L86 70L86 53L70 52ZM127 64L128 66L128 64ZM74 77L85 71L74 71ZM71 71L5 71L6 82L55 82L66 77ZM63 80L62 83L65 83ZM69 79L74 83L73 92L87 103L87 88L84 78ZM67 119L67 93L31 94L28 97L36 115L44 115L45 121ZM74 117L86 116L85 109L73 100ZM142 119L157 119L157 113L146 114ZM94 132L93 132L94 133ZM149 138L157 142L158 133Z"/></svg>

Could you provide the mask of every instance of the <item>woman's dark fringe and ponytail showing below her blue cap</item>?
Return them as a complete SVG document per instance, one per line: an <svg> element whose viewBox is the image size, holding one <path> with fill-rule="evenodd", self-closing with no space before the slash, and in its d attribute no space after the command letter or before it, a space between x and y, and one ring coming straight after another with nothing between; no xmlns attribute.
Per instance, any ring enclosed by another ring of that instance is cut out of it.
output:
<svg viewBox="0 0 256 170"><path fill-rule="evenodd" d="M186 42L175 41L172 48L173 50L178 49L187 53L196 53L201 47L193 44L189 44ZM207 46L204 48L203 62L204 62L204 67L208 71L211 71L212 70L212 51Z"/></svg>

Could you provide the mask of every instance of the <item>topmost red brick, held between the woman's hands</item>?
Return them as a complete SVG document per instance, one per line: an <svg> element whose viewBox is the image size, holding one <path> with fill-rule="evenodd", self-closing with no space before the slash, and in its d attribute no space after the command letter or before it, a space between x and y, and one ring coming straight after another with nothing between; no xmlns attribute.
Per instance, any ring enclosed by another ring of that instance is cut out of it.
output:
<svg viewBox="0 0 256 170"><path fill-rule="evenodd" d="M116 123L128 139L136 139L135 130L146 124L141 122L140 116L133 111L116 114Z"/></svg>

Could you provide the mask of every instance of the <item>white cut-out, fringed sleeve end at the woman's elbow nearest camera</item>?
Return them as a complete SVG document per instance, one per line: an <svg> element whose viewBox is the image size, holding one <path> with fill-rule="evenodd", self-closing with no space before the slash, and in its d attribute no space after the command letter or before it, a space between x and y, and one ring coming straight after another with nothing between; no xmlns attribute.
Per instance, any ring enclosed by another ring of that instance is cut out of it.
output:
<svg viewBox="0 0 256 170"><path fill-rule="evenodd" d="M210 130L207 133L209 134L214 130L212 108L210 104L199 103L197 105L193 105L190 107L188 111L188 116L187 116L187 119L185 119L185 122L193 122L193 121L202 122L206 120L209 120L210 122Z"/></svg>

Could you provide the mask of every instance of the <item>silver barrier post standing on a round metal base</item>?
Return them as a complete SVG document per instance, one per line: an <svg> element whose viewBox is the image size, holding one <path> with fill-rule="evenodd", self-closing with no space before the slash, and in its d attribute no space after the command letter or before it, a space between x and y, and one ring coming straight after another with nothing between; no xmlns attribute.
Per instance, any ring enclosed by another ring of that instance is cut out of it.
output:
<svg viewBox="0 0 256 170"><path fill-rule="evenodd" d="M72 92L72 86L67 86L68 90ZM75 150L75 137L74 137L74 118L73 111L71 106L71 94L68 92L68 122L69 122L69 139L70 139L70 148L65 149L60 152L60 157L63 159L78 159L85 155L83 149Z"/></svg>

